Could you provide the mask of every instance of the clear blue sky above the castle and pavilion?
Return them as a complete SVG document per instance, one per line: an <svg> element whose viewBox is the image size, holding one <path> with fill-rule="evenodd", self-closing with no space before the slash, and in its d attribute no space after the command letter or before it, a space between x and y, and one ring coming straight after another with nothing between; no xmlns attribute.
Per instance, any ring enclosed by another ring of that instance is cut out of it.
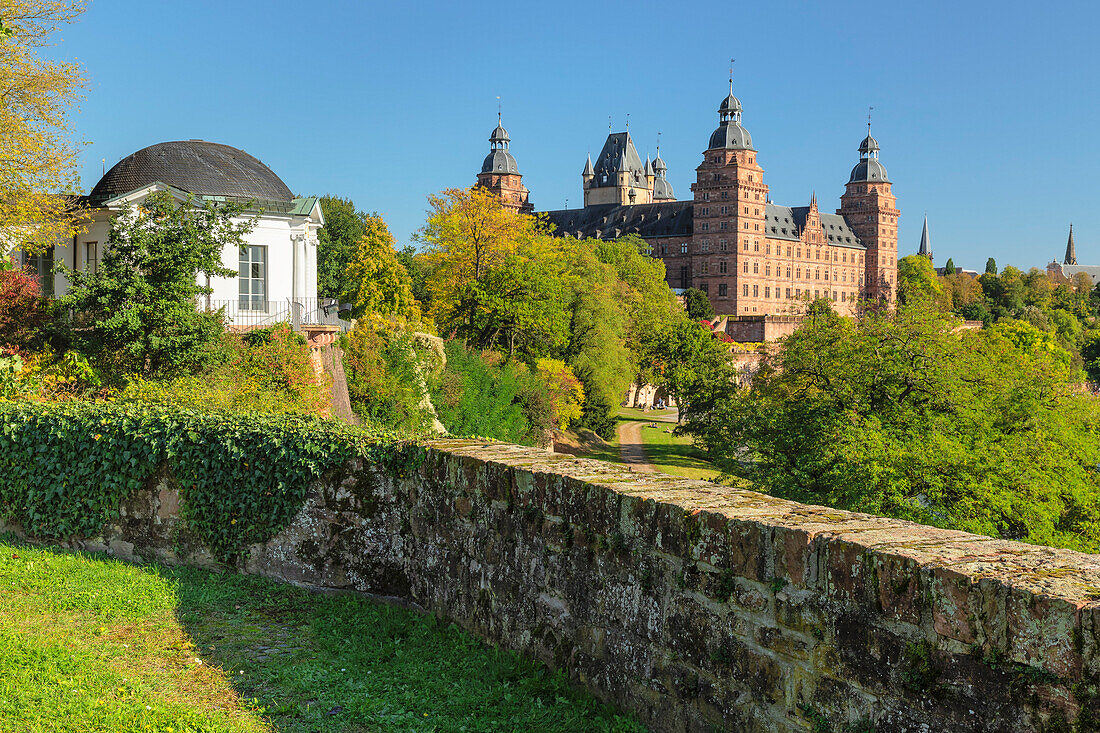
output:
<svg viewBox="0 0 1100 733"><path fill-rule="evenodd" d="M296 193L377 211L402 242L426 196L469 186L496 97L537 209L629 113L679 198L717 124L729 58L771 198L839 205L872 132L936 261L1100 264L1094 2L365 2L94 0L53 50L87 67L86 188L145 145L241 147Z"/></svg>

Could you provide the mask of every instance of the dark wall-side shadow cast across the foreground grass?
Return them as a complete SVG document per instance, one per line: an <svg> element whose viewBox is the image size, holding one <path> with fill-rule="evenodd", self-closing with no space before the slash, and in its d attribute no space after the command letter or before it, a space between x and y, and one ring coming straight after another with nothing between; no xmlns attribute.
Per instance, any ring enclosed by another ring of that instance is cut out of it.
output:
<svg viewBox="0 0 1100 733"><path fill-rule="evenodd" d="M564 675L351 594L173 568L196 646L278 731L642 731Z"/></svg>

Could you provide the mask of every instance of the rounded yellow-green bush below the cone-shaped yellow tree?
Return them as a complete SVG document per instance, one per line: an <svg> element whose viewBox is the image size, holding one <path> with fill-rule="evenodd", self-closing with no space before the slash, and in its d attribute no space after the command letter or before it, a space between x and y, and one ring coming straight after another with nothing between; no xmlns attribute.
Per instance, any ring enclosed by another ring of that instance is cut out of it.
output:
<svg viewBox="0 0 1100 733"><path fill-rule="evenodd" d="M348 392L355 414L373 425L421 433L431 416L422 406L427 358L410 333L382 321L362 319L343 344Z"/></svg>

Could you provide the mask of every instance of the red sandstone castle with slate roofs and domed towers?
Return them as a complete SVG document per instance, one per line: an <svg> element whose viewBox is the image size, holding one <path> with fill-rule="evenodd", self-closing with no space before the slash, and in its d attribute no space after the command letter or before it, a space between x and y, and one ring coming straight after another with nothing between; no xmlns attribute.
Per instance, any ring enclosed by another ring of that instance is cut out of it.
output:
<svg viewBox="0 0 1100 733"><path fill-rule="evenodd" d="M498 121L477 184L532 212L509 142ZM581 174L584 208L539 216L562 237L638 234L664 261L670 286L702 289L719 315L801 313L818 297L851 314L860 299L893 298L898 207L870 125L836 214L818 210L816 197L810 206L771 203L733 84L695 168L692 200L675 200L667 169L659 149L642 163L628 132L608 134Z"/></svg>

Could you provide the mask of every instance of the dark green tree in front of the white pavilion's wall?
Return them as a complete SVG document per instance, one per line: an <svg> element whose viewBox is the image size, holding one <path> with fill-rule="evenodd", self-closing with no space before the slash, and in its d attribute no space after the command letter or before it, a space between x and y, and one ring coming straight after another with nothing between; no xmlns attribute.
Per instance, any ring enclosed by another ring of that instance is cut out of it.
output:
<svg viewBox="0 0 1100 733"><path fill-rule="evenodd" d="M223 319L196 309L211 293L196 283L237 274L221 261L255 223L234 221L241 212L156 193L114 217L99 270L63 269L72 287L61 306L76 315L78 349L119 376L173 376L210 363Z"/></svg>

